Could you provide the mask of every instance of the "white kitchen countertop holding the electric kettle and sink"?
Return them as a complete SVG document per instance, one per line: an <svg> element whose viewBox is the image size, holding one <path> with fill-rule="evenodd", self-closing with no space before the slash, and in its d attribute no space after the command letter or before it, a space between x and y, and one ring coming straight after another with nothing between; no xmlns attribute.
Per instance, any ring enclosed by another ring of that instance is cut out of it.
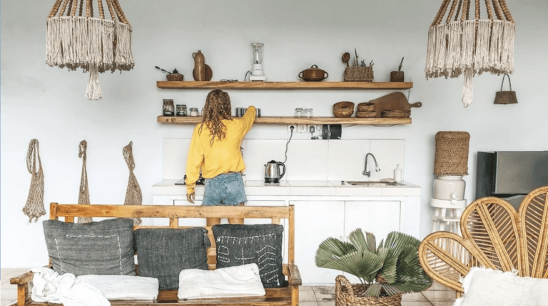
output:
<svg viewBox="0 0 548 306"><path fill-rule="evenodd" d="M153 185L153 195L184 195L185 185L178 179L164 179ZM245 181L245 194L264 196L420 196L420 186L402 181L396 186L352 186L341 181L280 181L265 185L264 181ZM196 185L196 196L203 196L203 185Z"/></svg>

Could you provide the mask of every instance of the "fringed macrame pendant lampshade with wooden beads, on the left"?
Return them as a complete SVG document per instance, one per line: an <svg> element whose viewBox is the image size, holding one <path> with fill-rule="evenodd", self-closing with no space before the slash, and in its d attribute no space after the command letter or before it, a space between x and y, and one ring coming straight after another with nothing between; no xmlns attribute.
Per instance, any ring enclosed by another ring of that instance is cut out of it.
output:
<svg viewBox="0 0 548 306"><path fill-rule="evenodd" d="M104 0L111 20L105 19L103 0L97 0L98 18L93 17L93 0L85 1L85 15L84 0L55 1L46 22L46 63L89 71L86 97L99 100L103 97L99 73L131 70L135 65L132 30L118 0Z"/></svg>

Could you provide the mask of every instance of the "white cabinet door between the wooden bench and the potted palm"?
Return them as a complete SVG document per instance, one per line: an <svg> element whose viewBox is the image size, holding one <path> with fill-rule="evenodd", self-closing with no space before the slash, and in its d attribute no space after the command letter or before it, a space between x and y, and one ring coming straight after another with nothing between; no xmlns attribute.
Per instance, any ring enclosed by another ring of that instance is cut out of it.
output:
<svg viewBox="0 0 548 306"><path fill-rule="evenodd" d="M303 285L333 285L338 270L318 268L315 253L326 238L342 238L345 206L342 201L290 201L295 205L295 263Z"/></svg>

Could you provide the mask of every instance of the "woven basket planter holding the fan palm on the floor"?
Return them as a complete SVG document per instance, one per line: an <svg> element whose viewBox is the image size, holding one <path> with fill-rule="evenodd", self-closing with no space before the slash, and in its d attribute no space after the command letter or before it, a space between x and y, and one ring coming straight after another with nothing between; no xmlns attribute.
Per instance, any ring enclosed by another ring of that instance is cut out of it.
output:
<svg viewBox="0 0 548 306"><path fill-rule="evenodd" d="M342 275L335 278L335 306L401 306L402 294L391 297L362 296L364 285L350 285Z"/></svg>

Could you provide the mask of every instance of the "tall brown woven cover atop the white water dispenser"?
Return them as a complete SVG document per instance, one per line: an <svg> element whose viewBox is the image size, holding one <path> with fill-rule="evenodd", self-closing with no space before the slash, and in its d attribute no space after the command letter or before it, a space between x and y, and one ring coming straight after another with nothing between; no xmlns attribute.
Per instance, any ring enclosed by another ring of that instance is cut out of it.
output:
<svg viewBox="0 0 548 306"><path fill-rule="evenodd" d="M468 132L437 132L434 174L468 175Z"/></svg>

